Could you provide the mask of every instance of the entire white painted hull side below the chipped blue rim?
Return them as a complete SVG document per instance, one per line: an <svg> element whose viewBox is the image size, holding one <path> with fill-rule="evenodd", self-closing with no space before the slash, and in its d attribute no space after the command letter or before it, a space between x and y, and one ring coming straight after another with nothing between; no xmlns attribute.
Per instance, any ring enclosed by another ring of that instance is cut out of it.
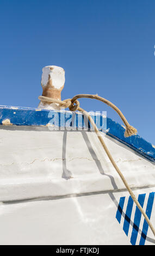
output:
<svg viewBox="0 0 155 256"><path fill-rule="evenodd" d="M154 163L107 135L104 141L135 196L145 194L147 210L155 192ZM135 204L128 227L129 194L94 132L6 126L1 127L0 146L1 245L142 242L144 217L135 234ZM155 204L151 222L155 225ZM145 245L154 242L148 228Z"/></svg>

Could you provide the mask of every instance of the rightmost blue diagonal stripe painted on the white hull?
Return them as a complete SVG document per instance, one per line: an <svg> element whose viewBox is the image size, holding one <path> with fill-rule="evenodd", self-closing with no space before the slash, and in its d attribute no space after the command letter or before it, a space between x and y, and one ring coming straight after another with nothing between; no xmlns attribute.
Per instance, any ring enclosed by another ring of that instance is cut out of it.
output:
<svg viewBox="0 0 155 256"><path fill-rule="evenodd" d="M149 194L147 206L146 206L146 215L149 218L149 220L151 218L153 200L154 200L154 192ZM147 224L146 220L144 220L139 245L145 245L147 230L148 230L148 224Z"/></svg>

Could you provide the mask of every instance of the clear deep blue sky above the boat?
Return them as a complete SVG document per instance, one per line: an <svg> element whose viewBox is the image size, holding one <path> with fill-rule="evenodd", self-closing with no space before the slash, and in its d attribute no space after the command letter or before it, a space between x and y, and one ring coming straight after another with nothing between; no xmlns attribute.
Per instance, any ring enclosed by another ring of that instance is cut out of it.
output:
<svg viewBox="0 0 155 256"><path fill-rule="evenodd" d="M42 68L65 69L62 99L98 94L155 144L154 0L1 0L0 105L37 107ZM117 114L96 100L88 111Z"/></svg>

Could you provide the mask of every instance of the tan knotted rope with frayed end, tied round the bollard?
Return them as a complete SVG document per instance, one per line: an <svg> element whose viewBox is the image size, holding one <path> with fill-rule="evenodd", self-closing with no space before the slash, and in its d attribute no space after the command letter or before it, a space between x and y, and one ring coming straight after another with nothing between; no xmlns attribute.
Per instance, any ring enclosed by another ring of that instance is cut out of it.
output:
<svg viewBox="0 0 155 256"><path fill-rule="evenodd" d="M82 97L100 100L100 101L106 103L111 108L113 108L120 115L123 123L126 125L125 137L129 137L129 136L134 135L134 134L137 133L137 129L135 129L134 127L129 125L128 121L126 120L126 118L124 117L124 115L122 114L122 112L120 111L119 108L117 108L110 101L108 101L108 100L106 100L103 97L100 97L98 95L78 94L78 95L74 96L72 99L66 99L64 101L51 99L51 98L45 97L45 96L39 96L39 100L45 101L45 102L51 102L51 103L59 103L60 107L63 107L63 108L69 107L70 111L81 111L88 118L88 120L90 121L92 127L94 127L96 135L97 135L98 139L100 140L103 149L106 151L106 154L108 155L110 162L113 164L113 167L115 168L116 172L119 174L123 184L126 186L126 188L127 188L128 192L129 192L129 194L131 195L134 203L139 208L141 214L144 216L146 222L148 223L149 227L152 230L153 235L155 236L155 230L153 228L153 225L152 225L151 221L149 220L149 218L145 214L145 211L142 209L142 207L139 204L137 198L135 197L135 195L132 192L131 188L127 184L127 181L126 181L125 177L123 176L123 174L121 173L119 167L117 167L117 164L115 163L115 161L114 161L113 157L111 156L111 154L110 154L106 144L104 143L103 138L101 136L101 133L98 131L98 128L97 128L96 124L94 123L94 120L90 117L88 112L86 112L83 108L79 107L79 101L77 99L82 98Z"/></svg>

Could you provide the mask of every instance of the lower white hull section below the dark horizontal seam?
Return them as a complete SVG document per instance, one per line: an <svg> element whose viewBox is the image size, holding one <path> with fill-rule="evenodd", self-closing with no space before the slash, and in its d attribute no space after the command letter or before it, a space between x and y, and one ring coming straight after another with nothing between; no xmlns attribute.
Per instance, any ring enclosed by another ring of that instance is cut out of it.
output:
<svg viewBox="0 0 155 256"><path fill-rule="evenodd" d="M134 193L148 194L152 188L136 190ZM116 220L120 197L128 193L107 192L79 197L52 200L33 200L1 205L1 245L131 245L135 205L133 205L128 236L121 223ZM155 223L155 211L151 221ZM141 217L136 245L139 245L144 218ZM135 235L134 235L135 236ZM148 228L145 245L154 245L152 231Z"/></svg>

